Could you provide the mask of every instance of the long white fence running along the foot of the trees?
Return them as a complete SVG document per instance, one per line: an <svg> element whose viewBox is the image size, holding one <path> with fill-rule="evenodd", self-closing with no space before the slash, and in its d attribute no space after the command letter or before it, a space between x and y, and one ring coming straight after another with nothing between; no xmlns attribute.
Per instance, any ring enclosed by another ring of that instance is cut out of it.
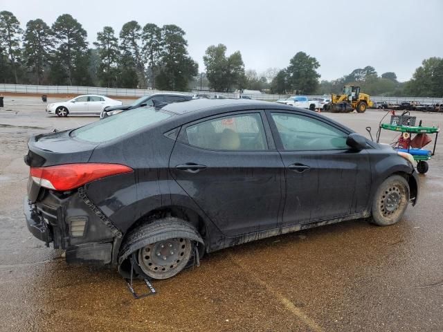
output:
<svg viewBox="0 0 443 332"><path fill-rule="evenodd" d="M115 88L99 88L96 86L57 86L57 85L25 85L25 84L0 84L0 93L40 93L42 95L50 95L53 93L66 94L66 95L84 95L84 94L94 94L94 95L111 95L111 96L121 96L121 97L134 97L138 98L143 95L149 95L152 93L159 92L174 92L174 91L158 91L151 89L115 89ZM183 92L177 92L183 93ZM224 93L224 92L208 92L208 91L198 91L195 90L192 93L202 93L206 95L223 95L226 98L238 98L238 93ZM279 100L282 98L287 98L289 95L271 95L271 94L248 94L252 99L255 100ZM325 95L309 95L309 98L325 98ZM388 103L399 103L399 102L420 102L421 104L435 104L443 102L443 98L416 98L416 97L379 97L371 96L371 100L374 102L388 102Z"/></svg>

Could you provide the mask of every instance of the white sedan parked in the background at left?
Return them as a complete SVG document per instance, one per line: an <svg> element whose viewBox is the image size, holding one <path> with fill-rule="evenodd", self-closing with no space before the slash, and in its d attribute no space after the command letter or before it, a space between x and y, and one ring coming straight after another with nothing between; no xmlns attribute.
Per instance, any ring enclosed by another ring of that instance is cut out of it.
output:
<svg viewBox="0 0 443 332"><path fill-rule="evenodd" d="M107 98L104 95L79 95L67 102L55 102L46 106L46 112L57 114L57 116L68 116L69 114L97 114L109 106L123 104L120 100Z"/></svg>

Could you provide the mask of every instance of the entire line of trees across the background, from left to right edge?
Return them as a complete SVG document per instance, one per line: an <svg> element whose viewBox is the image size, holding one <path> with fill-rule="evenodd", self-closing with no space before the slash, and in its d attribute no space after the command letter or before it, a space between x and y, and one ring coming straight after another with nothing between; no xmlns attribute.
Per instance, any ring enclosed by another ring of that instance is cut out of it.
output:
<svg viewBox="0 0 443 332"><path fill-rule="evenodd" d="M397 75L379 75L374 67L356 68L336 80L321 80L318 60L298 52L286 68L263 73L245 70L239 50L227 55L223 44L211 45L203 57L206 73L188 54L185 31L168 24L124 24L116 35L105 26L89 47L87 31L69 14L48 26L28 21L26 30L12 12L0 12L0 83L105 86L188 91L198 86L213 91L236 89L271 93L323 95L358 84L370 95L443 97L443 59L424 59L408 82Z"/></svg>

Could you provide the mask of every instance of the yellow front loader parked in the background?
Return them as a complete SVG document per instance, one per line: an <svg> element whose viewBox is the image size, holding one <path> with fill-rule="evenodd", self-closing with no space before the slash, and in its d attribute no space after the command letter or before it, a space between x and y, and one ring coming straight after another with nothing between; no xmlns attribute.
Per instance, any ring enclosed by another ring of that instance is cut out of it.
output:
<svg viewBox="0 0 443 332"><path fill-rule="evenodd" d="M360 86L345 85L343 93L336 95L332 93L331 102L323 107L324 111L332 113L349 113L354 109L359 113L364 113L368 107L372 107L373 102L369 95L360 93Z"/></svg>

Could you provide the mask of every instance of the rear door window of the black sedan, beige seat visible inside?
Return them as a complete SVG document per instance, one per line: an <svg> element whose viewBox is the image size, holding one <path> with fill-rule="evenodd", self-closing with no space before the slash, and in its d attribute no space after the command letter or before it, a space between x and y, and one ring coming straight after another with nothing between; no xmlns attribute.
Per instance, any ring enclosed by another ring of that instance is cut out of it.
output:
<svg viewBox="0 0 443 332"><path fill-rule="evenodd" d="M211 150L266 150L262 117L259 113L224 116L186 128L188 142Z"/></svg>

